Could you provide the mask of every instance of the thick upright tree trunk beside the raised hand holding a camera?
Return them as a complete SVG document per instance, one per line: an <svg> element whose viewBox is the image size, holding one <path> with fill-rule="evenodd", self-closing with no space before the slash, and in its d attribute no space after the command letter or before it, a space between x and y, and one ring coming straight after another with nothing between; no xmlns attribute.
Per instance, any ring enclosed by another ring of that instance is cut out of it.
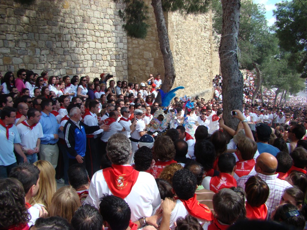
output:
<svg viewBox="0 0 307 230"><path fill-rule="evenodd" d="M240 1L222 0L223 25L220 42L220 68L223 76L223 120L232 129L239 120L233 119L231 111L242 111L243 76L239 71L237 37L239 32ZM230 135L228 135L229 137Z"/></svg>

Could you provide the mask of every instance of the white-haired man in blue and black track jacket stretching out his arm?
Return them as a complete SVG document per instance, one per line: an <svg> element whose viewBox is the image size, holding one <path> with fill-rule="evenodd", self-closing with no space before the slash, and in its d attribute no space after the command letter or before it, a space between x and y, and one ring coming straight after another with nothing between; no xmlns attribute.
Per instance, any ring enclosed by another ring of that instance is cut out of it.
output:
<svg viewBox="0 0 307 230"><path fill-rule="evenodd" d="M91 134L99 129L103 131L108 131L108 125L85 125L81 118L81 110L78 107L74 107L70 110L70 119L66 122L64 126L64 138L67 146L69 165L76 163L84 164L87 171L91 171L92 164L85 161L86 152L86 134Z"/></svg>

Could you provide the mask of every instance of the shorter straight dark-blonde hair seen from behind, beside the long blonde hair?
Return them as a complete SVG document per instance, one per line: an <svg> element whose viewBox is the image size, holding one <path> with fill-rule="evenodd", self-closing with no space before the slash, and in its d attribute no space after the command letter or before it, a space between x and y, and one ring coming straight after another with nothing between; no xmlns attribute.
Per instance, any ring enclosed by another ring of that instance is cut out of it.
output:
<svg viewBox="0 0 307 230"><path fill-rule="evenodd" d="M71 186L62 187L52 197L49 217L59 216L70 223L72 216L80 206L80 198L76 190Z"/></svg>

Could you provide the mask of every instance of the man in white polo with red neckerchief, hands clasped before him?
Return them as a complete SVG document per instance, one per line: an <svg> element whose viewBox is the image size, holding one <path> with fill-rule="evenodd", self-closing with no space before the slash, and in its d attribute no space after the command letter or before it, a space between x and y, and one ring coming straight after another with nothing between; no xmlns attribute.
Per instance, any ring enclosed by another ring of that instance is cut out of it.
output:
<svg viewBox="0 0 307 230"><path fill-rule="evenodd" d="M27 117L27 120L17 125L17 130L21 140L22 151L25 153L28 161L33 164L37 161L41 137L44 134L41 123L39 123L41 113L37 109L32 108L28 110Z"/></svg>

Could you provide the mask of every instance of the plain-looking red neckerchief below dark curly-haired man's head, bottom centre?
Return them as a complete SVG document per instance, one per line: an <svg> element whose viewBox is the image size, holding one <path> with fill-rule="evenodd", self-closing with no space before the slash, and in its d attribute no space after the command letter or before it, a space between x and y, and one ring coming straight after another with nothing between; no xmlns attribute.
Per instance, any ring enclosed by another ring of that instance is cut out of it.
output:
<svg viewBox="0 0 307 230"><path fill-rule="evenodd" d="M213 220L213 214L207 205L200 204L196 199L196 194L188 200L179 199L187 209L188 213L193 217L202 220Z"/></svg>

